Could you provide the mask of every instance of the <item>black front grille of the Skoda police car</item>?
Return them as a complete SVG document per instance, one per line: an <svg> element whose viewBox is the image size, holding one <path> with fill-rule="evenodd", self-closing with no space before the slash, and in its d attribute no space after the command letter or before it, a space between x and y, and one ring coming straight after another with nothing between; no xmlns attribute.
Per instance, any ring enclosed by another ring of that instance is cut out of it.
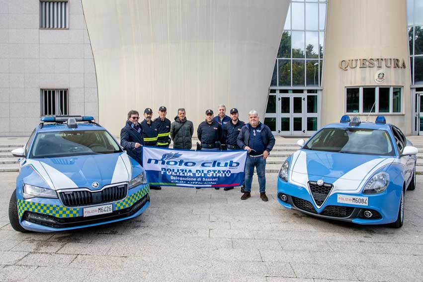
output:
<svg viewBox="0 0 423 282"><path fill-rule="evenodd" d="M121 200L126 196L126 184L111 186L101 191L75 190L59 192L62 203L66 206L84 206Z"/></svg>

